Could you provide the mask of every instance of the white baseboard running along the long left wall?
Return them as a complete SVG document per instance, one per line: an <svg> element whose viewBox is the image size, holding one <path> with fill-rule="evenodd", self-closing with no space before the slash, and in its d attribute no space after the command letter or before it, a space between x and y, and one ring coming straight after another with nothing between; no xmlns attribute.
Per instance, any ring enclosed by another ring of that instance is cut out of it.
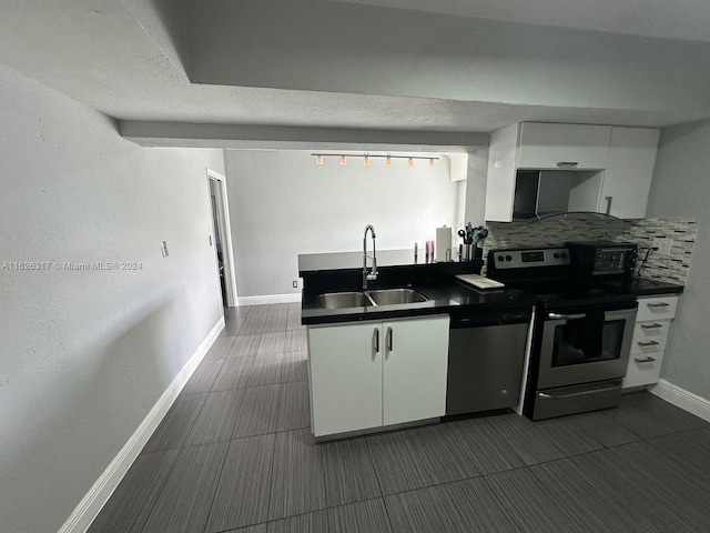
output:
<svg viewBox="0 0 710 533"><path fill-rule="evenodd" d="M223 329L224 316L220 318L204 341L200 343L195 353L155 402L155 405L143 419L141 425L138 426L91 490L79 502L79 505L67 519L59 533L85 533Z"/></svg>

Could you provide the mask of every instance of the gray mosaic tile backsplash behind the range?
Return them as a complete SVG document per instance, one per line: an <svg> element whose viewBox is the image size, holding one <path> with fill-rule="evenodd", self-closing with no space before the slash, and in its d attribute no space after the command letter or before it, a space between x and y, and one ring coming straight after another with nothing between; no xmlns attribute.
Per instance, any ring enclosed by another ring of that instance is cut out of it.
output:
<svg viewBox="0 0 710 533"><path fill-rule="evenodd" d="M639 247L638 266L647 249L641 269L643 278L684 284L696 242L698 223L693 220L552 217L538 221L487 222L488 238L484 241L484 258L488 250L499 248L557 247L566 241L608 240L635 242Z"/></svg>

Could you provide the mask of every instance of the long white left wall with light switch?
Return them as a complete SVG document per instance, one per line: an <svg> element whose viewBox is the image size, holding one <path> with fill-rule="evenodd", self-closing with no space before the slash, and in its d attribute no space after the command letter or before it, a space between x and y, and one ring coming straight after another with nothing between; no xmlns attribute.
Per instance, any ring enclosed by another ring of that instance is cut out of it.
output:
<svg viewBox="0 0 710 533"><path fill-rule="evenodd" d="M50 263L0 270L0 530L57 531L221 319L205 167L0 67L0 264Z"/></svg>

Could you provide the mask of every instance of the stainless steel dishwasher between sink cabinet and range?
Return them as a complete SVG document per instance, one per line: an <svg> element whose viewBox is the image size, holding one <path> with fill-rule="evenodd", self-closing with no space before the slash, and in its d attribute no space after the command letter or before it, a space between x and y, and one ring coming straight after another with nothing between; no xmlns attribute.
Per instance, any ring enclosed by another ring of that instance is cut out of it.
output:
<svg viewBox="0 0 710 533"><path fill-rule="evenodd" d="M530 309L452 314L447 415L518 405L530 315Z"/></svg>

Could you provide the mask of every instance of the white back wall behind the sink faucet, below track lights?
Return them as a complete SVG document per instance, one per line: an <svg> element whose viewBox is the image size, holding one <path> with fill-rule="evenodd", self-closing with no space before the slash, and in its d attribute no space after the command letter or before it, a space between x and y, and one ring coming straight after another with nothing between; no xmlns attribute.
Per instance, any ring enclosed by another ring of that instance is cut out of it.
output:
<svg viewBox="0 0 710 533"><path fill-rule="evenodd" d="M457 220L459 184L443 162L351 159L342 167L311 152L226 151L232 239L240 298L297 293L300 253L351 252L363 248L365 225L377 248L412 249Z"/></svg>

